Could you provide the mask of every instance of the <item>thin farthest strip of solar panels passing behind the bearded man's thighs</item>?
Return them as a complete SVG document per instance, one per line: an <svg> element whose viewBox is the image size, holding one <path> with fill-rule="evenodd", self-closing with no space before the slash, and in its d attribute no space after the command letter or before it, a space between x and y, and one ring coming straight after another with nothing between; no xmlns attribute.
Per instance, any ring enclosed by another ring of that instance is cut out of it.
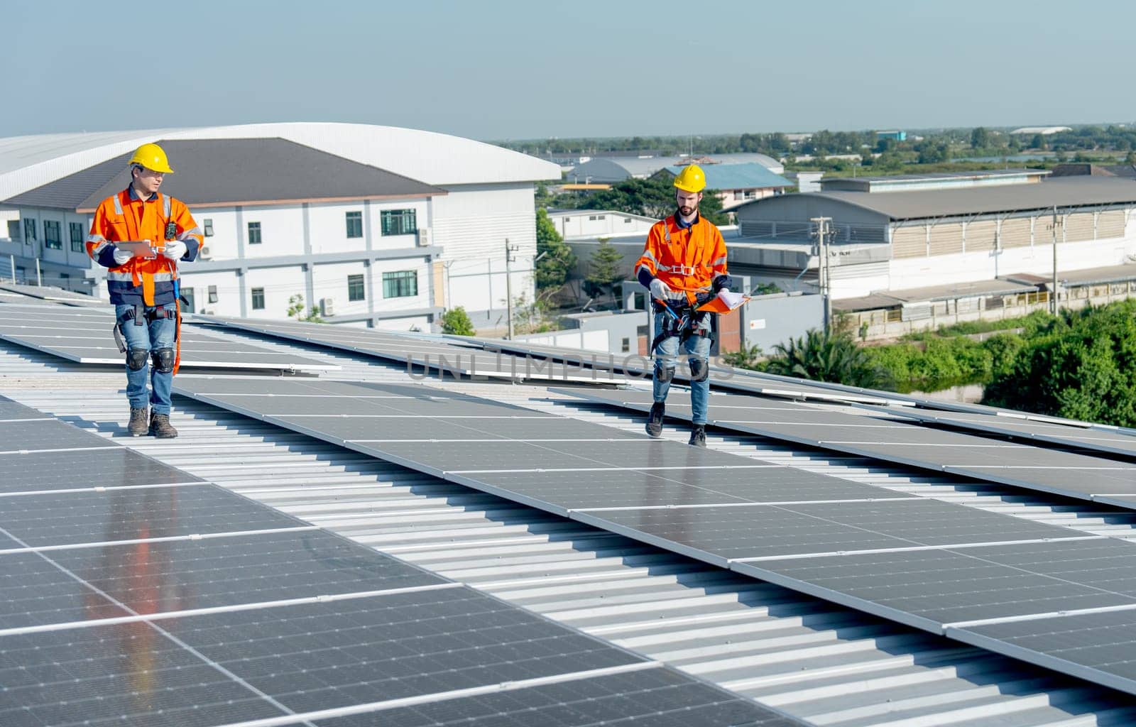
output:
<svg viewBox="0 0 1136 727"><path fill-rule="evenodd" d="M457 340L457 336L448 336ZM568 364L573 367L596 371L615 371L634 378L649 378L652 373L652 364L649 357L638 354L616 354L595 351L580 351L576 349L565 349L533 343L520 343L516 341L499 341L496 339L468 339L470 343L482 346L486 351L504 351L527 359L544 359L556 361L560 365ZM751 394L765 394L767 396L779 396L786 399L813 399L818 401L855 401L869 404L895 404L903 403L891 396L887 392L833 392L820 386L811 386L799 379L788 382L768 382L749 375L750 371L730 366L717 365L711 361L710 385L716 388L727 391L742 391ZM690 381L690 375L679 366L675 371L675 381L683 383Z"/></svg>

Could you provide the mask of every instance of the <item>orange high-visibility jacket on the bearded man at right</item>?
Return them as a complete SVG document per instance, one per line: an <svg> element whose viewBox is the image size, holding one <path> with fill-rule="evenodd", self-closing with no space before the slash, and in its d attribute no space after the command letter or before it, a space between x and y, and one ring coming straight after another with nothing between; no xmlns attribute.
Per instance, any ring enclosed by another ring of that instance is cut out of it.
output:
<svg viewBox="0 0 1136 727"><path fill-rule="evenodd" d="M726 242L718 227L701 216L683 229L671 215L648 233L643 254L635 264L636 277L644 270L676 293L685 292L693 303L698 293L710 291L715 277L726 275Z"/></svg>

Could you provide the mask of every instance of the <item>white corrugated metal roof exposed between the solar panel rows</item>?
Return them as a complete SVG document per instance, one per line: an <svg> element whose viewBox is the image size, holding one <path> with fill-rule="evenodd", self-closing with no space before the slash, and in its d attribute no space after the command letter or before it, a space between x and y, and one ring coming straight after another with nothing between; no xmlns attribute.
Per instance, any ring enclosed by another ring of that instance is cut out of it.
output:
<svg viewBox="0 0 1136 727"><path fill-rule="evenodd" d="M235 337L254 337L226 334ZM258 339L259 340L259 339ZM310 346L275 343L282 350ZM406 382L396 366L328 354L336 378ZM0 391L106 436L125 409L122 374L91 374L0 343ZM532 386L433 382L616 427L626 413ZM531 508L194 402L173 441L124 442L310 523L612 641L815 725L1126 725L1110 690L864 616ZM685 433L669 433L685 438ZM716 449L901 492L1136 537L1134 516L1068 504L758 437Z"/></svg>

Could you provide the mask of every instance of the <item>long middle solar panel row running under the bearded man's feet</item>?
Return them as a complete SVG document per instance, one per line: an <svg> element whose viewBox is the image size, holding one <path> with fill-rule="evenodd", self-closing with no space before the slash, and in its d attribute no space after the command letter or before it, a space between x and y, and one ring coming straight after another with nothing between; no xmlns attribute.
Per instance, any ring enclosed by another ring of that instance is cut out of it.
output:
<svg viewBox="0 0 1136 727"><path fill-rule="evenodd" d="M250 390L194 378L176 391L1136 693L1126 663L1056 654L1060 640L1026 646L983 633L1056 613L1068 620L1051 630L1079 628L1101 609L1136 617L1136 544L425 386L265 381ZM312 400L317 411L304 408Z"/></svg>

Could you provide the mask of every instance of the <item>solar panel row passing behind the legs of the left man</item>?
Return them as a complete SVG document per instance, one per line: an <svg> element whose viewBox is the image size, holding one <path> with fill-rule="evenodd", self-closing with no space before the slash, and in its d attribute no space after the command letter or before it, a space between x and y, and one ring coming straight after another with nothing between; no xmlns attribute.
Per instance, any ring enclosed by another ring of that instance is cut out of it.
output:
<svg viewBox="0 0 1136 727"><path fill-rule="evenodd" d="M114 315L77 308L0 307L0 339L77 364L123 366L115 343ZM302 358L182 327L182 366L289 371L339 369L334 364Z"/></svg>

